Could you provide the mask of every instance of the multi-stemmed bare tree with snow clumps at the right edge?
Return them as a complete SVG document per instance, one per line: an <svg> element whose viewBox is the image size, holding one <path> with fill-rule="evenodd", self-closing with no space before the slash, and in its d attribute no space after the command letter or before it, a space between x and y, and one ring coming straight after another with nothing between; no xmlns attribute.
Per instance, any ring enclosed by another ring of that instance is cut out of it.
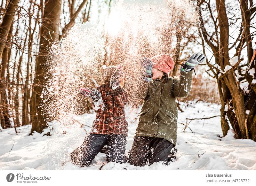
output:
<svg viewBox="0 0 256 186"><path fill-rule="evenodd" d="M215 4L216 8L214 5L212 6L210 0L208 2L198 0L196 10L199 14L198 30L203 51L205 53L205 48L209 46L213 53L212 57L215 58L215 64L210 63L210 60L207 59L207 65L212 73L210 75L218 82L222 131L224 136L227 135L229 121L237 139L247 138L255 141L256 91L253 80L256 77L255 73L250 73L252 68L256 68L255 59L252 58L253 33L250 32L250 22L255 16L255 7L253 7L252 1L240 1L241 17L236 18L234 15L232 16L232 8L229 7L231 5L227 5L225 0L216 0ZM204 7L201 7L202 5ZM208 14L202 15L202 9ZM216 16L214 12L217 12ZM231 18L228 18L228 15ZM234 39L230 36L229 28L234 24L237 25L238 19L242 19L240 29L238 29L240 33ZM214 27L213 31L207 29L209 24ZM234 40L234 43L229 42L230 38ZM231 64L230 51L234 49L236 53L233 57L237 57L238 60L236 64ZM242 50L247 50L247 62L244 64L242 64L243 59L241 58ZM248 86L244 86L245 81Z"/></svg>

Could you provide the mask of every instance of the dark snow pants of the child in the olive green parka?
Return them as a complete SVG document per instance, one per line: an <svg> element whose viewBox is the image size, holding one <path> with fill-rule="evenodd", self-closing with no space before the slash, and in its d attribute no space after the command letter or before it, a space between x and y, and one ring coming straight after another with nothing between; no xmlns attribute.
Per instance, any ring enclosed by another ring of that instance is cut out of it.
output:
<svg viewBox="0 0 256 186"><path fill-rule="evenodd" d="M128 162L135 166L168 162L168 156L175 145L160 137L136 136L132 144Z"/></svg>

